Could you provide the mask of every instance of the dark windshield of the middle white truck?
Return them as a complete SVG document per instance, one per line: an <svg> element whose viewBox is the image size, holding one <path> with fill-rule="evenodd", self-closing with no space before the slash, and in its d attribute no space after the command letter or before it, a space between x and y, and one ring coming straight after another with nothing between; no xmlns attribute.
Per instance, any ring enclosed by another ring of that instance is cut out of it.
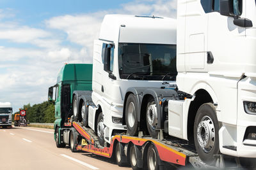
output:
<svg viewBox="0 0 256 170"><path fill-rule="evenodd" d="M120 78L131 80L175 80L176 45L120 43Z"/></svg>

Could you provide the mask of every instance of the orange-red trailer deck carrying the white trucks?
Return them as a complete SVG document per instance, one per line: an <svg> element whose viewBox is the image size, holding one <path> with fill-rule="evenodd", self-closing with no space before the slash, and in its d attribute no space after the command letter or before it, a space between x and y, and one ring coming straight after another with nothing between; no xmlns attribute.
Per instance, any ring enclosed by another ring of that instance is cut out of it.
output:
<svg viewBox="0 0 256 170"><path fill-rule="evenodd" d="M157 148L159 159L163 162L169 162L179 166L186 166L190 163L196 169L214 168L205 164L195 150L184 140L177 138L171 139L152 139L150 137L127 136L126 134L118 134L113 136L109 146L100 146L96 134L90 128L83 127L79 122L72 122L72 126L84 138L76 146L77 150L94 153L103 157L112 157L115 142L134 145L143 148L146 143L154 143Z"/></svg>

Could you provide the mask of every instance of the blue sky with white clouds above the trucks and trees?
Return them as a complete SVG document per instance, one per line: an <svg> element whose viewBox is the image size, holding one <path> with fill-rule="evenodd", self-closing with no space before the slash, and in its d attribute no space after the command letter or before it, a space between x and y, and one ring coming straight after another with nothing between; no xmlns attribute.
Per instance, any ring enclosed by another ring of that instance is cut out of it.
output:
<svg viewBox="0 0 256 170"><path fill-rule="evenodd" d="M0 101L47 100L61 66L92 63L104 15L176 17L175 0L0 0Z"/></svg>

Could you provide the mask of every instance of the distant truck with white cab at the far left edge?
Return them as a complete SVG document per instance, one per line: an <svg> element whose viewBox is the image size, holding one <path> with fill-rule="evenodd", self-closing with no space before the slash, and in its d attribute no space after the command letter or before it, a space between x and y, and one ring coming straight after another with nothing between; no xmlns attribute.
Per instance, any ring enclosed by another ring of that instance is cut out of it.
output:
<svg viewBox="0 0 256 170"><path fill-rule="evenodd" d="M0 127L12 127L12 106L10 102L0 103Z"/></svg>

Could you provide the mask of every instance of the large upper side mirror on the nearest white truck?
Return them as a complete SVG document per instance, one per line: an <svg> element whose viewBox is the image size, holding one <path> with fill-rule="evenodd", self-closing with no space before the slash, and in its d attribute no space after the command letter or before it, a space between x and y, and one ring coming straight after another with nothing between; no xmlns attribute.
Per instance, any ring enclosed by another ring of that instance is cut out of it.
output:
<svg viewBox="0 0 256 170"><path fill-rule="evenodd" d="M220 0L220 14L238 18L242 14L242 0Z"/></svg>

